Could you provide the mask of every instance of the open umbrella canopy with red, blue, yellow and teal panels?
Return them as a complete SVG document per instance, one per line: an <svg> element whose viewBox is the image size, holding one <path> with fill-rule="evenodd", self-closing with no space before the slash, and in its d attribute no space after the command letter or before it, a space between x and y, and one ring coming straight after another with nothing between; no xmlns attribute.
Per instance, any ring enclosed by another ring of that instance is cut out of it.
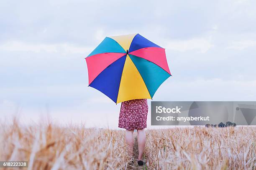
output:
<svg viewBox="0 0 256 170"><path fill-rule="evenodd" d="M152 99L171 76L165 49L139 34L105 37L85 60L89 86L115 103Z"/></svg>

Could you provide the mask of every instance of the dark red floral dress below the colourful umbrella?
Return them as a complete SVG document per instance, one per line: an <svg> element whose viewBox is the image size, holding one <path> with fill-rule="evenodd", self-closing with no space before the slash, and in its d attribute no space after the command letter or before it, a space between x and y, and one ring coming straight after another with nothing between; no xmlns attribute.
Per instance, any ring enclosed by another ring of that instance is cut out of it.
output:
<svg viewBox="0 0 256 170"><path fill-rule="evenodd" d="M118 128L125 128L126 130L146 128L147 115L147 99L135 99L122 102Z"/></svg>

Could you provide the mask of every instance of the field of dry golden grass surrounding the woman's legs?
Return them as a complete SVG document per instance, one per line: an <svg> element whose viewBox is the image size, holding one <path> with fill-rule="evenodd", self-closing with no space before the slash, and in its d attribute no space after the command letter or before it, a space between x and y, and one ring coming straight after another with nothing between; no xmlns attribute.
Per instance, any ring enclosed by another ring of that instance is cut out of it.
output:
<svg viewBox="0 0 256 170"><path fill-rule="evenodd" d="M123 130L27 127L14 120L2 122L0 134L0 160L27 160L31 170L118 170L128 169L131 160ZM146 166L140 169L256 169L255 127L146 130L146 140Z"/></svg>

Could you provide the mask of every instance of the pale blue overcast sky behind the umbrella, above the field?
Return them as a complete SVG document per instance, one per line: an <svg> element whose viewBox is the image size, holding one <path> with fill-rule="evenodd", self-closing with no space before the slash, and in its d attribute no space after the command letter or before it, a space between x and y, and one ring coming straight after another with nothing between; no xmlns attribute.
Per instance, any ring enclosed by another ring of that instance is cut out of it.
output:
<svg viewBox="0 0 256 170"><path fill-rule="evenodd" d="M120 104L87 87L84 57L105 36L131 33L166 48L173 77L153 101L255 101L255 9L254 0L1 0L0 119L116 128Z"/></svg>

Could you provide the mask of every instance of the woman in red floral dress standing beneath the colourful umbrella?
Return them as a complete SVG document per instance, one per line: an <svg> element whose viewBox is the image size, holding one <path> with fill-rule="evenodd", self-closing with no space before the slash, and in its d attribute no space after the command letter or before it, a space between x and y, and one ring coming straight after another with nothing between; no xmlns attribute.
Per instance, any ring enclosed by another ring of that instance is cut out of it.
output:
<svg viewBox="0 0 256 170"><path fill-rule="evenodd" d="M145 163L142 161L146 143L144 128L147 127L148 102L147 99L135 99L122 102L119 115L119 128L125 128L125 141L129 146L128 154L133 156L133 131L138 133L138 165ZM133 163L133 161L132 161Z"/></svg>

